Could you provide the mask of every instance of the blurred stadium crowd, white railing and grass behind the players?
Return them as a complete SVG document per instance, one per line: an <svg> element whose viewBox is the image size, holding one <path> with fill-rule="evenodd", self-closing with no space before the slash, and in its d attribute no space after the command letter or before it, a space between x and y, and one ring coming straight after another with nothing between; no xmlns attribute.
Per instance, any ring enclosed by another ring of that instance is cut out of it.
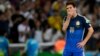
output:
<svg viewBox="0 0 100 56"><path fill-rule="evenodd" d="M25 56L29 37L39 42L38 56L61 56L65 40L61 30L68 0L0 0L0 28L6 30L11 56ZM75 0L77 11L91 20L94 34L86 56L100 56L100 0ZM86 31L87 32L87 31Z"/></svg>

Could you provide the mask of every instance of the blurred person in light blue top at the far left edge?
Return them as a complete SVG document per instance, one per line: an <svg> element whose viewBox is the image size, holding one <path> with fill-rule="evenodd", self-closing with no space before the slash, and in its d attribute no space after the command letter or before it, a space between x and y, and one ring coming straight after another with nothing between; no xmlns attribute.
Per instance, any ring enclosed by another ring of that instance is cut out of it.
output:
<svg viewBox="0 0 100 56"><path fill-rule="evenodd" d="M9 56L9 41L4 35L5 31L0 29L0 56Z"/></svg>

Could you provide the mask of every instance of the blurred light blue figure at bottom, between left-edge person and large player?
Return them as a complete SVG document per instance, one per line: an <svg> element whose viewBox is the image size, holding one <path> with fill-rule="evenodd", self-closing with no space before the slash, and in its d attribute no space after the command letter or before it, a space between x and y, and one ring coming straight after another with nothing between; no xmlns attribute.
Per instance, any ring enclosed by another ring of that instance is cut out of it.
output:
<svg viewBox="0 0 100 56"><path fill-rule="evenodd" d="M37 56L38 55L39 44L34 38L29 38L26 44L26 55L27 56Z"/></svg>

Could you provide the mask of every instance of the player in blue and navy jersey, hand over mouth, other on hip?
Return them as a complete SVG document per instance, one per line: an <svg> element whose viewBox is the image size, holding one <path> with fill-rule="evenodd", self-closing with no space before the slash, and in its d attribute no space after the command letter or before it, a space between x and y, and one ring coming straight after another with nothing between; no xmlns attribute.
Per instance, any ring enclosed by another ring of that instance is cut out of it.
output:
<svg viewBox="0 0 100 56"><path fill-rule="evenodd" d="M94 32L90 21L86 17L78 15L76 10L73 1L66 3L67 16L62 27L62 30L66 33L63 56L84 56L84 46ZM88 33L83 39L85 29L88 30Z"/></svg>

